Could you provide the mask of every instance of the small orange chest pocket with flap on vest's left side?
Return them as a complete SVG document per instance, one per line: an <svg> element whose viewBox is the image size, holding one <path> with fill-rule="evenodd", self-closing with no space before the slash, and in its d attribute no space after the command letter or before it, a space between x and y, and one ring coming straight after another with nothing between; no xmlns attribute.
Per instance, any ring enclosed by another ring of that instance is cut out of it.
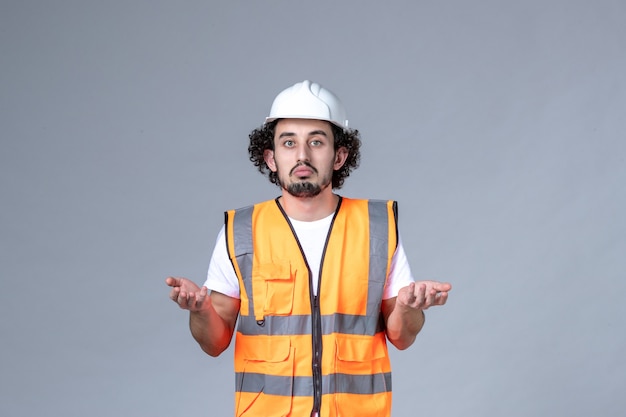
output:
<svg viewBox="0 0 626 417"><path fill-rule="evenodd" d="M265 315L286 316L293 311L295 279L288 261L259 265L259 275L265 281Z"/></svg>

